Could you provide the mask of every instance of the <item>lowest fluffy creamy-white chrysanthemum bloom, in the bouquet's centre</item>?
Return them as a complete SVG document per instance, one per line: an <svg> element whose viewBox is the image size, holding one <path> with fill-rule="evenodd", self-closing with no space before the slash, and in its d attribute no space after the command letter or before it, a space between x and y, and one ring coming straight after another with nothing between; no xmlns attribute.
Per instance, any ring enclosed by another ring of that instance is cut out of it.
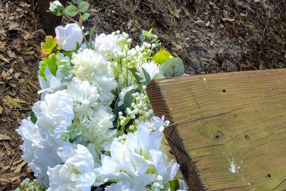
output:
<svg viewBox="0 0 286 191"><path fill-rule="evenodd" d="M94 143L98 153L102 150L110 150L111 142L116 134L116 130L111 130L112 121L114 121L111 108L99 104L93 109L88 108L75 115L74 122L78 122L82 128L80 137L86 142Z"/></svg>

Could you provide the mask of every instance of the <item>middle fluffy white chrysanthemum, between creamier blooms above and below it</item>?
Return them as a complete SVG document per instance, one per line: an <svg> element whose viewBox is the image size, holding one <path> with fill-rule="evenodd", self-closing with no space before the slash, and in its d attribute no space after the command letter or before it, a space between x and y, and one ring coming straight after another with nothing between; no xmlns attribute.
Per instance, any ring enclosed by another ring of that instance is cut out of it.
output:
<svg viewBox="0 0 286 191"><path fill-rule="evenodd" d="M74 112L80 112L88 107L97 106L99 92L96 86L91 85L88 81L81 81L74 77L66 88L74 102Z"/></svg>

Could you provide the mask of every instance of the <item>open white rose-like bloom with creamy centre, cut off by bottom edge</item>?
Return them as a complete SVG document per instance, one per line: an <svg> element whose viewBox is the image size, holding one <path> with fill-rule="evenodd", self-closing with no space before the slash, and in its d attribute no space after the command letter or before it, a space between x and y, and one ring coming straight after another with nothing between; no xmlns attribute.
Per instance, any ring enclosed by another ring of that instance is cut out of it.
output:
<svg viewBox="0 0 286 191"><path fill-rule="evenodd" d="M74 147L74 146L72 146ZM97 175L94 167L100 164L94 163L89 150L78 144L77 149L69 148L70 156L64 164L48 169L49 189L47 191L90 191Z"/></svg>

